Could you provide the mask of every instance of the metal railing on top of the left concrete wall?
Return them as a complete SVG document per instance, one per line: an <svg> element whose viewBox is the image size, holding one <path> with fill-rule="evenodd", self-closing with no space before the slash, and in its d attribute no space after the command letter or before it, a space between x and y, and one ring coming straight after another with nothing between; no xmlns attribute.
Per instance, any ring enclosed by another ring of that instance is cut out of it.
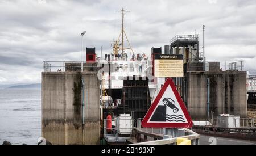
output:
<svg viewBox="0 0 256 156"><path fill-rule="evenodd" d="M97 64L97 63L96 63ZM65 71L81 71L81 61L43 61L44 72L65 72ZM88 66L83 62L84 71L97 72L97 65Z"/></svg>

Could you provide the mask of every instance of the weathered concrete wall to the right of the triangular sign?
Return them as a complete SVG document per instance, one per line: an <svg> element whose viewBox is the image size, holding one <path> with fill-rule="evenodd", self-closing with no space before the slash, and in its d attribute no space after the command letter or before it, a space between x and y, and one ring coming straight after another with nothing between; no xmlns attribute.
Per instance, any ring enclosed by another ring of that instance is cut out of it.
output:
<svg viewBox="0 0 256 156"><path fill-rule="evenodd" d="M187 108L192 119L207 119L207 78L210 79L210 111L246 117L246 71L187 72ZM211 116L211 115L210 115Z"/></svg>

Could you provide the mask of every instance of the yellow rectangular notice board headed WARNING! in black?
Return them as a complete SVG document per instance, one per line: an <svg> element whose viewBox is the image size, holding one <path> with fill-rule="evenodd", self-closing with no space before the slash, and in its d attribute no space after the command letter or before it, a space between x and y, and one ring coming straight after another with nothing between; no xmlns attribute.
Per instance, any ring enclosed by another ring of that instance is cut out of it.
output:
<svg viewBox="0 0 256 156"><path fill-rule="evenodd" d="M183 55L155 54L155 77L184 77Z"/></svg>

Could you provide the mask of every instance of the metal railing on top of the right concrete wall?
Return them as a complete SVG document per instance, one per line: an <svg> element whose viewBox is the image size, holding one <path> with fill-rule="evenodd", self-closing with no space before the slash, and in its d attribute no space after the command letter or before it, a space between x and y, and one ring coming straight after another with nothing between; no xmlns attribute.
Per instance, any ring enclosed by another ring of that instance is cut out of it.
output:
<svg viewBox="0 0 256 156"><path fill-rule="evenodd" d="M244 71L245 61L207 61L202 63L191 63L187 66L187 71Z"/></svg>

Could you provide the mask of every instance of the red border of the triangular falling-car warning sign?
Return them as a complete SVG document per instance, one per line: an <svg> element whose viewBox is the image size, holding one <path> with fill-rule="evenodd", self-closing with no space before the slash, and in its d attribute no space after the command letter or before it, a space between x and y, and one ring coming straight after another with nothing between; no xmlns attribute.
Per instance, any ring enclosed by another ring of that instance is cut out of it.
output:
<svg viewBox="0 0 256 156"><path fill-rule="evenodd" d="M167 90L167 87L169 85L172 91L174 92L177 102L179 103L180 108L183 111L184 116L188 122L187 123L162 123L162 122L150 123L148 122L148 120L150 119L152 113L156 109L156 106L158 106L160 99L162 98L164 92ZM161 88L161 90L159 91L158 95L156 96L154 102L151 104L150 108L148 109L146 115L144 116L144 119L142 120L142 127L144 128L191 128L192 126L193 126L193 121L188 114L187 108L185 108L185 104L181 99L179 92L176 89L174 81L172 81L171 78L168 78L164 83L163 87Z"/></svg>

